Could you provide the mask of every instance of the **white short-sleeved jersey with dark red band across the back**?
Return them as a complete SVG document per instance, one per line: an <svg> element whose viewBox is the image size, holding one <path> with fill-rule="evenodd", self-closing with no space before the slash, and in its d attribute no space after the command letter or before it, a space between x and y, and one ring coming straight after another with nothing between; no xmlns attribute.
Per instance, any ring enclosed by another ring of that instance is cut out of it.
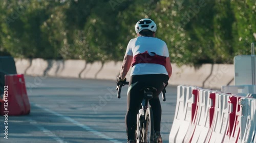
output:
<svg viewBox="0 0 256 143"><path fill-rule="evenodd" d="M134 57L132 75L166 74L165 58L169 57L164 41L154 37L139 36L130 40L125 52Z"/></svg>

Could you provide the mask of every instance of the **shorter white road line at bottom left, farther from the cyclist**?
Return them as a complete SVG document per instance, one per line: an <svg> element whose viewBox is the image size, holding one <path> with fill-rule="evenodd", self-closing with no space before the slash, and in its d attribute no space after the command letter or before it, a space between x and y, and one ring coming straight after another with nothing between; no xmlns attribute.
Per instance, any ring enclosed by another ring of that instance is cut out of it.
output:
<svg viewBox="0 0 256 143"><path fill-rule="evenodd" d="M51 132L50 130L42 127L41 125L37 124L36 121L34 120L28 120L30 124L34 125L35 127L37 127L39 130L41 130L42 132L44 132L46 135L50 136L51 138L53 138L54 140L56 140L59 143L67 143L66 141L62 140L61 138L59 138L57 135L55 135L53 132Z"/></svg>

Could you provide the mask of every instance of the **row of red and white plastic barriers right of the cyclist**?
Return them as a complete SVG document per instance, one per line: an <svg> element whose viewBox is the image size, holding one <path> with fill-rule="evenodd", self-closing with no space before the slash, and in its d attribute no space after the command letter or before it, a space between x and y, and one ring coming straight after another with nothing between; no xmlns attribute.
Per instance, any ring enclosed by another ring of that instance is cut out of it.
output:
<svg viewBox="0 0 256 143"><path fill-rule="evenodd" d="M256 143L256 99L180 85L169 142Z"/></svg>

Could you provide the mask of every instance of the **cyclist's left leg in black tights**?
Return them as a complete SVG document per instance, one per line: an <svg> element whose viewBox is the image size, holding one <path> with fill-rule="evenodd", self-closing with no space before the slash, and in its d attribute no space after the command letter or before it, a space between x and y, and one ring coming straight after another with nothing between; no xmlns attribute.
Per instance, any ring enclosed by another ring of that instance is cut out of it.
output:
<svg viewBox="0 0 256 143"><path fill-rule="evenodd" d="M127 140L135 138L137 113L143 99L143 84L140 82L140 75L131 76L127 91L127 112L125 116Z"/></svg>

